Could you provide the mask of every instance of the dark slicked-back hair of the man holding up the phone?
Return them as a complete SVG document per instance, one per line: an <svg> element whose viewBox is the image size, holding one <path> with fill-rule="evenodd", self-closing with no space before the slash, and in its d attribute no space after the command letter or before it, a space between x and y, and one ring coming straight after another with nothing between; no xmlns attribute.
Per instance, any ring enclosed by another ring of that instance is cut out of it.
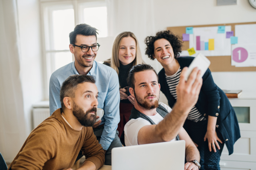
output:
<svg viewBox="0 0 256 170"><path fill-rule="evenodd" d="M151 67L151 65L148 65L148 64L139 64L139 65L134 65L131 70L129 71L129 75L128 75L128 78L127 78L127 82L128 82L128 85L129 87L133 88L134 89L134 83L135 83L135 79L134 79L134 74L137 73L137 72L141 72L141 71L147 71L147 70L152 70L154 71L154 73L156 74L157 76L157 82L158 82L158 75L157 75L157 72L154 70L153 67Z"/></svg>

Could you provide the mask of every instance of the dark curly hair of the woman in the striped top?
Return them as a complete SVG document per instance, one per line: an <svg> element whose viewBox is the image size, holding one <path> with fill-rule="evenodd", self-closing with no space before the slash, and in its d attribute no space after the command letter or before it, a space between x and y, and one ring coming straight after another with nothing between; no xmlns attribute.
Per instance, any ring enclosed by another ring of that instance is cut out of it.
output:
<svg viewBox="0 0 256 170"><path fill-rule="evenodd" d="M148 58L154 60L154 42L159 39L166 39L167 41L170 42L172 45L173 53L174 53L174 58L177 58L180 56L179 52L181 52L181 46L182 46L182 41L179 40L178 36L175 36L171 31L159 31L157 32L156 36L148 36L145 39L145 44L147 45L146 52L145 54L148 55Z"/></svg>

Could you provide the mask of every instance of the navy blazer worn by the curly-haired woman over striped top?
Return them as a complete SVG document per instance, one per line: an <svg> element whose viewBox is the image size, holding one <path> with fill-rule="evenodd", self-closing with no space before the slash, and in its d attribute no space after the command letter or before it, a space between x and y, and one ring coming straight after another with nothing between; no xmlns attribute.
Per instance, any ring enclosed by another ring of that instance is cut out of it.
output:
<svg viewBox="0 0 256 170"><path fill-rule="evenodd" d="M183 69L184 67L188 67L193 59L194 57L178 57L177 61L180 64L180 68ZM162 69L158 73L158 76L161 85L160 90L165 94L168 104L172 108L176 99L169 91L165 70ZM206 119L208 119L208 115L218 117L217 125L219 126L216 127L216 130L221 132L229 155L232 154L234 143L241 137L236 113L225 93L215 85L209 68L203 76L203 85L195 107Z"/></svg>

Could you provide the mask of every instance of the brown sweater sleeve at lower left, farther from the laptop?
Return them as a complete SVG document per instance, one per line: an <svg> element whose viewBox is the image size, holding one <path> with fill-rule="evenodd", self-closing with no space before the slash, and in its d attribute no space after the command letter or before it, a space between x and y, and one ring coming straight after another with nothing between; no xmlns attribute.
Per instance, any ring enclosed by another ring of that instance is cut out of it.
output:
<svg viewBox="0 0 256 170"><path fill-rule="evenodd" d="M11 164L12 170L42 170L44 163L55 156L58 141L55 127L42 125L29 135Z"/></svg>

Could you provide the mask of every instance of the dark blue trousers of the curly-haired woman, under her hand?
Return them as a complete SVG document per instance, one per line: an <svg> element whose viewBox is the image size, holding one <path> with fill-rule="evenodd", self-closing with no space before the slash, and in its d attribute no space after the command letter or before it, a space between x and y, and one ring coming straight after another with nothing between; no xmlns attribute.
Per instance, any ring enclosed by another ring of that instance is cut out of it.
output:
<svg viewBox="0 0 256 170"><path fill-rule="evenodd" d="M220 170L220 157L221 152L224 147L224 139L221 135L221 133L218 131L218 128L216 128L216 133L219 139L221 139L222 144L218 142L220 146L220 150L216 147L216 152L209 151L208 147L208 141L206 140L204 142L204 136L207 132L207 120L200 121L200 122L193 122L191 120L186 120L184 124L184 129L189 134L190 138L193 142L198 144L198 150L200 152L200 164L201 169L200 170Z"/></svg>

